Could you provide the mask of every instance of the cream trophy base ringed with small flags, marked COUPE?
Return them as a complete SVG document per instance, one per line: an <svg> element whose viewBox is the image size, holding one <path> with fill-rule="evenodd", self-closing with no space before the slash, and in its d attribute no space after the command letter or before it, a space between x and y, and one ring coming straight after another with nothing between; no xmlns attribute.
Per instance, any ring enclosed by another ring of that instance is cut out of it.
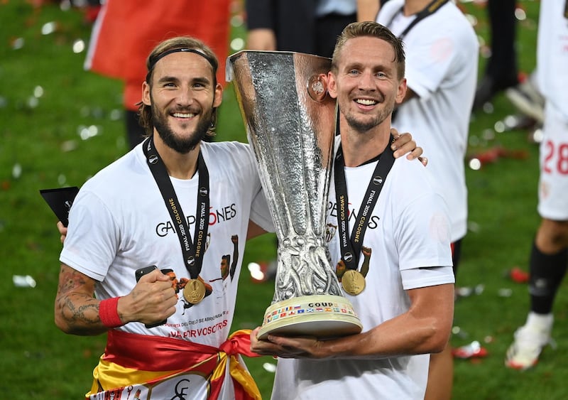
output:
<svg viewBox="0 0 568 400"><path fill-rule="evenodd" d="M269 334L329 339L360 333L363 325L343 296L313 295L288 298L266 308L258 339Z"/></svg>

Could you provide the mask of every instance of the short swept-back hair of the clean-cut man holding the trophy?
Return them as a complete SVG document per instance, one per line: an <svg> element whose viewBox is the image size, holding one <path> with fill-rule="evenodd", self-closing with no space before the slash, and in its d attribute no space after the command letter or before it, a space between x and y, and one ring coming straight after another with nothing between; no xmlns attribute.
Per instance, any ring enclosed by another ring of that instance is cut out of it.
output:
<svg viewBox="0 0 568 400"><path fill-rule="evenodd" d="M339 62L339 57L347 40L366 36L385 40L392 46L395 53L393 61L396 63L398 78L402 79L405 74L403 41L393 35L386 26L382 26L380 23L371 21L349 23L349 25L344 28L341 35L337 37L335 48L333 50L332 71L337 72L337 63Z"/></svg>

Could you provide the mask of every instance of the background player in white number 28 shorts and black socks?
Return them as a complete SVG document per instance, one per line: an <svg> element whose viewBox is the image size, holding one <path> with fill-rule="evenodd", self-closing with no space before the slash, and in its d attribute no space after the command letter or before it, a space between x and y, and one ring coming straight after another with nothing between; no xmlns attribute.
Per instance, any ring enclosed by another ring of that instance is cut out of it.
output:
<svg viewBox="0 0 568 400"><path fill-rule="evenodd" d="M515 331L505 364L533 367L551 341L552 306L568 265L568 9L566 2L540 3L537 39L538 87L545 97L540 143L538 213L542 217L530 252L530 312Z"/></svg>

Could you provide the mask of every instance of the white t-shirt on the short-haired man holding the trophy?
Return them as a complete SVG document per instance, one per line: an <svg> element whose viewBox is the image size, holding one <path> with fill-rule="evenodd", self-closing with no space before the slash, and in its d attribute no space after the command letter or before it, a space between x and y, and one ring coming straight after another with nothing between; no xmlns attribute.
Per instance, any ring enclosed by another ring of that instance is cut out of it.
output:
<svg viewBox="0 0 568 400"><path fill-rule="evenodd" d="M375 163L345 168L351 231ZM367 331L405 313L411 288L454 283L447 207L417 161L398 158L369 217L366 288L346 295ZM327 207L332 265L341 254L332 180ZM359 269L364 257L359 259ZM424 267L442 268L424 268ZM345 294L345 293L344 293ZM273 399L423 399L428 355L382 360L278 360Z"/></svg>

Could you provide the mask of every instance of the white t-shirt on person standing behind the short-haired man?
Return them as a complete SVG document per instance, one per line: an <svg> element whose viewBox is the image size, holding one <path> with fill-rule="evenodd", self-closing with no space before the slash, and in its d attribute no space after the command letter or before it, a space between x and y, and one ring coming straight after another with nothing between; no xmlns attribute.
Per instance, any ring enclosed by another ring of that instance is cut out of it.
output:
<svg viewBox="0 0 568 400"><path fill-rule="evenodd" d="M377 22L400 36L415 15L404 16L403 0L381 7ZM427 168L448 204L452 242L466 234L464 156L477 82L479 44L471 24L449 1L403 37L408 87L418 97L397 109L393 127L410 132L424 148Z"/></svg>

